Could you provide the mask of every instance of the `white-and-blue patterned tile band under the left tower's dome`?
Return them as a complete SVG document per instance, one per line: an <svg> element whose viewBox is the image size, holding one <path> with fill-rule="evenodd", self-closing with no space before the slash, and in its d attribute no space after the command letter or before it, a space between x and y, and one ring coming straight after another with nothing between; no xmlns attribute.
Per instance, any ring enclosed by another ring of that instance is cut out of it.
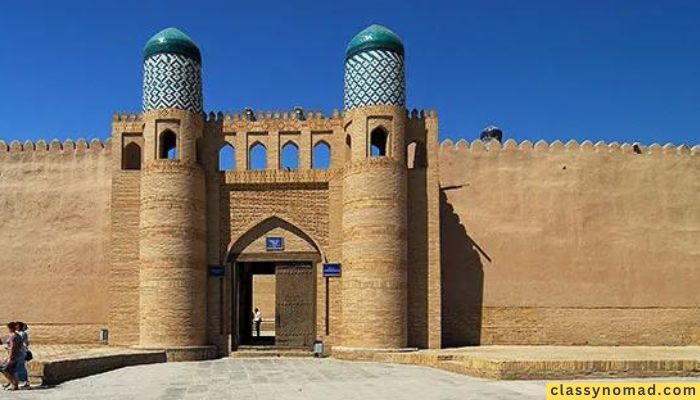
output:
<svg viewBox="0 0 700 400"><path fill-rule="evenodd" d="M144 62L143 111L177 108L202 112L202 67L179 54L156 54Z"/></svg>

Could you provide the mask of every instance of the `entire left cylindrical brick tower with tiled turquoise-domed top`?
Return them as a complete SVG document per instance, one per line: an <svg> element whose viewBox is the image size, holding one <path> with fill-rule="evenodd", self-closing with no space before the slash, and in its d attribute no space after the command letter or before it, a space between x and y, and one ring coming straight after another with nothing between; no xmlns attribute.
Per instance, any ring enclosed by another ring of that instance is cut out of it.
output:
<svg viewBox="0 0 700 400"><path fill-rule="evenodd" d="M144 48L140 215L140 346L206 342L201 54L168 28Z"/></svg>

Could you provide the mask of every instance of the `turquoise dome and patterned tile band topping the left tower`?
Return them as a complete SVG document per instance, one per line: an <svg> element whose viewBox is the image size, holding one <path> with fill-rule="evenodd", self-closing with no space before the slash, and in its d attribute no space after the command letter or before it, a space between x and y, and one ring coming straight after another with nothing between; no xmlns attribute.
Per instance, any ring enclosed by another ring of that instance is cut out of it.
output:
<svg viewBox="0 0 700 400"><path fill-rule="evenodd" d="M153 36L144 48L143 111L203 112L201 62L197 45L178 29Z"/></svg>

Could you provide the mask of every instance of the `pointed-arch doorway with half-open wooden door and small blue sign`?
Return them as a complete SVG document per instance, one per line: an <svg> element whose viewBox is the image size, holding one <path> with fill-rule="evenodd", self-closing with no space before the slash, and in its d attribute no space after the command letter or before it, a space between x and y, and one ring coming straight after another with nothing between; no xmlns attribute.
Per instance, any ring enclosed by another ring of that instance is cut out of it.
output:
<svg viewBox="0 0 700 400"><path fill-rule="evenodd" d="M310 348L316 339L317 242L296 225L270 217L229 247L234 348ZM254 310L260 309L260 334Z"/></svg>

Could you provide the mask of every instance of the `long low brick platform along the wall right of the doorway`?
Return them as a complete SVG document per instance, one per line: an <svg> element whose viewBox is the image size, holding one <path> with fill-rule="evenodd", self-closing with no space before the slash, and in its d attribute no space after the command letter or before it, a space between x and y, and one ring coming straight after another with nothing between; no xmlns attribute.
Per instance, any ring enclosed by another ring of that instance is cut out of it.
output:
<svg viewBox="0 0 700 400"><path fill-rule="evenodd" d="M479 346L403 353L334 348L331 354L504 380L700 376L700 346Z"/></svg>

